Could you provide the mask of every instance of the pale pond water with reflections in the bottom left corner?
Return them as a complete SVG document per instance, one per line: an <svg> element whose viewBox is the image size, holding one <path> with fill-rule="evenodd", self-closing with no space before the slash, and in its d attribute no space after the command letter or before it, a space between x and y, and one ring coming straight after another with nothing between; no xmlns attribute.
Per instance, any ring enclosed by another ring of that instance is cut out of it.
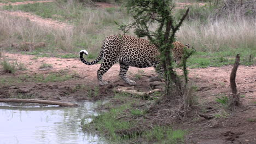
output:
<svg viewBox="0 0 256 144"><path fill-rule="evenodd" d="M96 116L96 104L79 107L11 106L0 103L0 143L106 143L102 137L83 133L80 118Z"/></svg>

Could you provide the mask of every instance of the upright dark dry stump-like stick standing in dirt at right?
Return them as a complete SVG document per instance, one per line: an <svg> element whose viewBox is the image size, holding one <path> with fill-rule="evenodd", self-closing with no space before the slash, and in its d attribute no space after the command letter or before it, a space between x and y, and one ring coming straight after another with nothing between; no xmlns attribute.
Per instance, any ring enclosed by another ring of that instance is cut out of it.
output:
<svg viewBox="0 0 256 144"><path fill-rule="evenodd" d="M236 106L241 106L239 95L237 94L236 89L236 71L239 66L240 62L240 56L239 54L236 55L236 61L234 63L234 67L232 68L231 74L230 74L230 87L232 94L229 97L229 107L234 110Z"/></svg>

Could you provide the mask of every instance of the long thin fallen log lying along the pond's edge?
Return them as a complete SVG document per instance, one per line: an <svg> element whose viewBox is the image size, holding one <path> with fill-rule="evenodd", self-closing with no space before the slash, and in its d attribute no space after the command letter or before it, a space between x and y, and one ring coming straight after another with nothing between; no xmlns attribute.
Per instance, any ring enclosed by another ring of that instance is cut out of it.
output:
<svg viewBox="0 0 256 144"><path fill-rule="evenodd" d="M59 105L59 106L78 106L77 104L64 103L53 100L40 100L40 99L0 99L0 103L37 103L37 104L48 104L48 105Z"/></svg>

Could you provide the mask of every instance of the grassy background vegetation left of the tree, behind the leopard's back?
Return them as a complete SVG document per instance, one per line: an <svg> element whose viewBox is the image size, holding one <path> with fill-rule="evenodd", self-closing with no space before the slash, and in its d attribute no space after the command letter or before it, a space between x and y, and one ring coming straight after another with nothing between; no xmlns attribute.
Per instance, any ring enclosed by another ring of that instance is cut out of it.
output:
<svg viewBox="0 0 256 144"><path fill-rule="evenodd" d="M52 28L38 26L37 23L20 17L3 14L0 17L0 39L2 43L13 44L21 42L45 42L46 47L36 49L28 54L56 56L60 51L79 52L81 49L89 51L89 57L95 58L101 48L102 41L109 34L117 34L118 26L114 21L127 21L127 14L121 8L89 8L75 1L65 3L56 1L51 3L35 3L27 5L4 6L8 10L22 10L33 12L42 17L65 21L73 28ZM13 47L5 46L5 50Z"/></svg>

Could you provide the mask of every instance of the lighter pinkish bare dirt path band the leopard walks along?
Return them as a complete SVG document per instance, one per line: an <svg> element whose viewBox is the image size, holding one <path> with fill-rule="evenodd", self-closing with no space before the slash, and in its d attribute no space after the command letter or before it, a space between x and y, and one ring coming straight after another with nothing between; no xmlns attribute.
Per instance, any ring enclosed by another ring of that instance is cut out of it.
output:
<svg viewBox="0 0 256 144"><path fill-rule="evenodd" d="M20 74L35 74L35 73L50 73L56 72L62 69L68 69L75 71L79 74L80 82L85 85L97 86L97 69L100 67L100 64L95 65L85 65L80 62L79 58L68 58L61 59L56 57L42 57L38 58L31 55L21 55L21 54L12 54L12 53L3 53L5 58L24 63L27 70L19 71ZM42 63L47 63L53 65L53 68L49 70L39 69ZM223 67L210 67L210 68L195 68L190 69L189 77L193 80L193 84L197 87L197 95L203 98L203 100L211 101L218 95L229 94L229 75L232 65L227 65ZM178 70L180 71L180 70ZM135 67L130 67L128 76L132 77L133 80L139 81L135 78L135 75L140 73L144 76L156 75L154 68L144 68L139 69ZM15 75L14 75L15 76ZM114 64L106 74L103 76L104 80L110 81L110 83L120 82L124 83L123 80L119 77L119 64ZM250 103L250 101L256 101L256 91L246 92L256 89L256 66L244 66L241 65L237 71L237 88L239 92L242 92L245 95L245 98L242 98L245 103Z"/></svg>

